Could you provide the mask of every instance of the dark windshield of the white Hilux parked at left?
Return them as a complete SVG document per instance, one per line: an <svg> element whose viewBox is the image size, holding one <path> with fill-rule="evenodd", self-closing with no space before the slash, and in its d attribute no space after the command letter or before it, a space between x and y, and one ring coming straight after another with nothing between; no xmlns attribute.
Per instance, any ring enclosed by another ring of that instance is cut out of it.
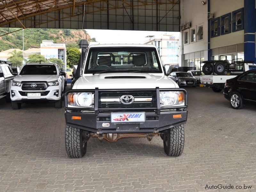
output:
<svg viewBox="0 0 256 192"><path fill-rule="evenodd" d="M25 65L20 75L57 75L54 65Z"/></svg>

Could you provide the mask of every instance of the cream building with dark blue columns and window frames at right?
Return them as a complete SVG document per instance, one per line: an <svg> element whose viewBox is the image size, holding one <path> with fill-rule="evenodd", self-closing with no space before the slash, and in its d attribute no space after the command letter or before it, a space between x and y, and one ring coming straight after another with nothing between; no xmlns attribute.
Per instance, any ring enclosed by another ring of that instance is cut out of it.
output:
<svg viewBox="0 0 256 192"><path fill-rule="evenodd" d="M203 2L180 1L182 66L199 69L204 60L255 62L255 0Z"/></svg>

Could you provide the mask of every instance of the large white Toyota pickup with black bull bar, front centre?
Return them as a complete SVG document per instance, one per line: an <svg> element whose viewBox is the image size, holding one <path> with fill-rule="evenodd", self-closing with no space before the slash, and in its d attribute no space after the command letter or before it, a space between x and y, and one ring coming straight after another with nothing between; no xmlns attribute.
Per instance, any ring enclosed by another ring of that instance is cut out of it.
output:
<svg viewBox="0 0 256 192"><path fill-rule="evenodd" d="M90 137L116 142L161 136L168 156L182 154L188 96L165 76L155 46L92 45L81 69L65 93L69 157L84 156Z"/></svg>

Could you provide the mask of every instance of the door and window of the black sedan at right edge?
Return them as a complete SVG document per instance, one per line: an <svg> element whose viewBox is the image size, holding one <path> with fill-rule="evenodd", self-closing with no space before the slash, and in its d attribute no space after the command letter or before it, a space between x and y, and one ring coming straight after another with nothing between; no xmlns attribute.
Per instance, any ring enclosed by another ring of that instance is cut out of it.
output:
<svg viewBox="0 0 256 192"><path fill-rule="evenodd" d="M256 70L245 73L237 82L244 100L256 101Z"/></svg>

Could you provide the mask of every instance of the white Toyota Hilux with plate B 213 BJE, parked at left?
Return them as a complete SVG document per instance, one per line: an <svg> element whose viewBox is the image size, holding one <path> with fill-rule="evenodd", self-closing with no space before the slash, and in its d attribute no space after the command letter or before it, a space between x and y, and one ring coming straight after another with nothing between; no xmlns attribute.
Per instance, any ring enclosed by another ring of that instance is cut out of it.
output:
<svg viewBox="0 0 256 192"><path fill-rule="evenodd" d="M12 108L20 109L21 103L31 100L55 102L61 108L65 93L65 72L56 64L27 63L11 83Z"/></svg>

